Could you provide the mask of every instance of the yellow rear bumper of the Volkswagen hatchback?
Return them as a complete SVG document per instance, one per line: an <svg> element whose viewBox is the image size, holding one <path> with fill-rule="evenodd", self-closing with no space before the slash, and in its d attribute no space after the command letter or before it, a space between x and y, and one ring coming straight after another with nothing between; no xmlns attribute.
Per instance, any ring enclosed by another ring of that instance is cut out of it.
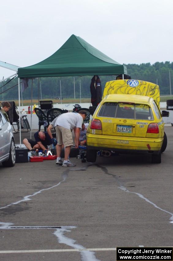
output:
<svg viewBox="0 0 173 261"><path fill-rule="evenodd" d="M112 150L119 153L158 154L163 138L136 138L98 135L87 133L87 148L92 150Z"/></svg>

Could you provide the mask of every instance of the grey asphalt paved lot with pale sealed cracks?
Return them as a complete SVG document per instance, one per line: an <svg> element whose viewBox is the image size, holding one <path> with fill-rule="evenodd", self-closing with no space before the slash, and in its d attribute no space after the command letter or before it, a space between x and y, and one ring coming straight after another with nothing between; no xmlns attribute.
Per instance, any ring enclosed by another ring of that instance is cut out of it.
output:
<svg viewBox="0 0 173 261"><path fill-rule="evenodd" d="M115 247L173 246L173 127L165 132L161 164L121 155L0 166L0 260L115 261Z"/></svg>

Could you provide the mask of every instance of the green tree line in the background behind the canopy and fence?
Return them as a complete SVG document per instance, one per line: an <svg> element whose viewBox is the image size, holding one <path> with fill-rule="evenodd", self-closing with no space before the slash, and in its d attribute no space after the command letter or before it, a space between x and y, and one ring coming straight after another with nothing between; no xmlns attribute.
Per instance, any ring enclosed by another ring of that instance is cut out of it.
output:
<svg viewBox="0 0 173 261"><path fill-rule="evenodd" d="M127 67L127 73L132 79L145 80L160 87L161 95L170 94L170 80L173 93L173 62L156 62L155 64L124 64ZM79 98L80 97L80 80L81 80L81 97L89 98L90 83L93 76L69 76L69 77L42 77L40 82L38 78L33 80L33 97L38 96L45 98L60 97L62 98ZM116 76L100 76L102 91L107 81L115 80ZM13 100L18 99L18 78L10 79L0 83L0 100ZM9 83L8 83L9 82ZM6 84L6 85L5 85ZM32 80L28 81L28 88L22 92L23 99L31 98L31 84ZM60 94L61 84L61 94ZM2 85L5 85L2 87ZM12 86L14 88L11 88ZM11 89L10 89L11 88ZM75 94L74 94L75 88ZM9 89L9 90L8 90ZM3 94L1 93L3 91Z"/></svg>

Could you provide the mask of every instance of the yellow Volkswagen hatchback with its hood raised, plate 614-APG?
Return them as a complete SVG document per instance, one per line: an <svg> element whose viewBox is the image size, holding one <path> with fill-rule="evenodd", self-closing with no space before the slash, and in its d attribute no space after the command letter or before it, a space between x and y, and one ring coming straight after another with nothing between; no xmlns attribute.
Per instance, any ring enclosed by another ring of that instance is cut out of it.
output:
<svg viewBox="0 0 173 261"><path fill-rule="evenodd" d="M106 85L103 99L87 129L86 160L95 162L97 151L108 150L120 154L148 153L152 155L152 163L161 163L161 152L167 145L162 116L168 116L169 113L160 112L159 89L155 88L155 92L148 92L150 96L144 96L138 93L141 94L139 90L142 90L147 82L137 81L139 86L136 89L134 86L129 88L128 82L131 83L129 80L111 81L113 82L116 84L119 82L121 87L124 84L128 93L118 94L119 85L112 88L112 84L107 83L111 88L107 88ZM148 84L151 86L152 83ZM113 94L109 94L108 89ZM125 92L122 90L123 88L120 93ZM137 95L133 94L134 91Z"/></svg>

